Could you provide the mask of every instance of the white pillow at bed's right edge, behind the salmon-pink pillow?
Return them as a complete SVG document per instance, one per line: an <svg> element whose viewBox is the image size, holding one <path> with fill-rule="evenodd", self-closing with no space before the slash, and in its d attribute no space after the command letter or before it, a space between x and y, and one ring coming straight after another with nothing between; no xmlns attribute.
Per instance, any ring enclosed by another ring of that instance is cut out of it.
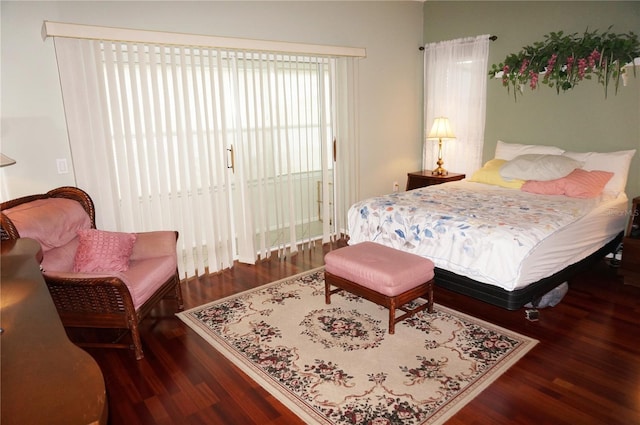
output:
<svg viewBox="0 0 640 425"><path fill-rule="evenodd" d="M627 185L627 175L631 159L636 150L616 152L565 152L564 156L584 162L583 169L587 171L610 171L613 177L604 187L604 192L618 196Z"/></svg>

